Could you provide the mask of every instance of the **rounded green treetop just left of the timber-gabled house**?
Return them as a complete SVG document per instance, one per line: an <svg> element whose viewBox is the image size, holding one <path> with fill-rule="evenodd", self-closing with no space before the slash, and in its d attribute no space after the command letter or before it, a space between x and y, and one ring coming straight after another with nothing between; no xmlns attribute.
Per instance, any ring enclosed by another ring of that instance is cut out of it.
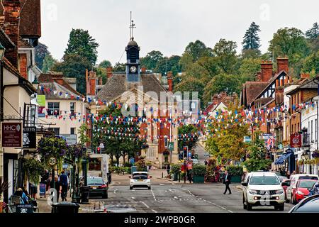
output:
<svg viewBox="0 0 319 227"><path fill-rule="evenodd" d="M241 82L237 76L225 73L218 74L206 85L203 92L203 102L207 104L208 101L211 101L213 94L219 94L224 91L228 94L232 94L233 92L239 94L240 85Z"/></svg>

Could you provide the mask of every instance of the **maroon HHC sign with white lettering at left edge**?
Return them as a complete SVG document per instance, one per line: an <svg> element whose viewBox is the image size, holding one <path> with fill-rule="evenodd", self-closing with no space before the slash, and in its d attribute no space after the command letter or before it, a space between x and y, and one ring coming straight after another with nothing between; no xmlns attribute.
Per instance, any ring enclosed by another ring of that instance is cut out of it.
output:
<svg viewBox="0 0 319 227"><path fill-rule="evenodd" d="M22 123L1 122L1 147L22 148Z"/></svg>

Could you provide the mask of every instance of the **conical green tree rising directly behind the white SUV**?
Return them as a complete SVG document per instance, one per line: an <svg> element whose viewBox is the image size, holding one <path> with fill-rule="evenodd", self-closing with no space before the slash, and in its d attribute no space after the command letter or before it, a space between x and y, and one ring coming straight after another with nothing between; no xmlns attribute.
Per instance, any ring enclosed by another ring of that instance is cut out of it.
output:
<svg viewBox="0 0 319 227"><path fill-rule="evenodd" d="M259 138L259 133L255 133L254 141L248 145L247 160L244 162L248 172L269 170L272 160L267 159L264 140Z"/></svg>

